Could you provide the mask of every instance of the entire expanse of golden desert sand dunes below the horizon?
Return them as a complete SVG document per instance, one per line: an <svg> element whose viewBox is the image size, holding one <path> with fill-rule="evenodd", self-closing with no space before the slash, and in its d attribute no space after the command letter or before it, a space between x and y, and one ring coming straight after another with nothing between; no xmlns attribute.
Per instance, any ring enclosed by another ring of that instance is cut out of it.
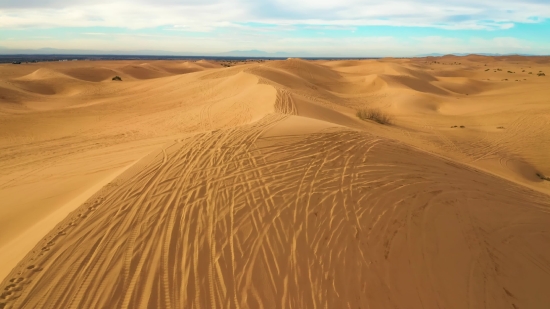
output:
<svg viewBox="0 0 550 309"><path fill-rule="evenodd" d="M0 65L0 308L549 308L539 73Z"/></svg>

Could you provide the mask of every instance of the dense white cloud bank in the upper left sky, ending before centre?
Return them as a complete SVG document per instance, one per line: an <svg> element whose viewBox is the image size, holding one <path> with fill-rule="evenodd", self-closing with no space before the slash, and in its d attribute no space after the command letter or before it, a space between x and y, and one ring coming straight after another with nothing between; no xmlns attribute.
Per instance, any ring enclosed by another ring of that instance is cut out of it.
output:
<svg viewBox="0 0 550 309"><path fill-rule="evenodd" d="M117 1L60 8L3 8L0 9L0 28L99 26L142 29L185 25L190 31L204 31L244 18L243 9L237 4L238 1L183 5Z"/></svg>

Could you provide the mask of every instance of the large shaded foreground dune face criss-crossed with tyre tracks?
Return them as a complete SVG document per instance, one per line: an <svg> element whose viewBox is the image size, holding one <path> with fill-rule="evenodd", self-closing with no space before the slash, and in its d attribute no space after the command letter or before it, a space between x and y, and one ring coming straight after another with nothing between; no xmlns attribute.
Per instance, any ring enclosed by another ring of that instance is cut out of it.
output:
<svg viewBox="0 0 550 309"><path fill-rule="evenodd" d="M47 235L2 283L0 303L550 302L547 196L358 131L277 134L289 117L183 138L143 160Z"/></svg>

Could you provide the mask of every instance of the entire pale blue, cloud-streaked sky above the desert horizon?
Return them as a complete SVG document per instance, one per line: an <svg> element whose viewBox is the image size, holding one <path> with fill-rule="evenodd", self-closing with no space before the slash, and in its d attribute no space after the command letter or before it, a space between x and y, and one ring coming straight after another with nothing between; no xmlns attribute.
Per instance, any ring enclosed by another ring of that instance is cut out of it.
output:
<svg viewBox="0 0 550 309"><path fill-rule="evenodd" d="M0 0L0 47L550 55L550 0Z"/></svg>

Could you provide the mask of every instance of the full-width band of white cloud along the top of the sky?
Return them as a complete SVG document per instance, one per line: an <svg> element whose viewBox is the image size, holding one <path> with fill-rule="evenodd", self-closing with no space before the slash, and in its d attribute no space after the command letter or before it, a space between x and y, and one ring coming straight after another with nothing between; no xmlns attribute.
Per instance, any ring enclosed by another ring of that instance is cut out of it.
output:
<svg viewBox="0 0 550 309"><path fill-rule="evenodd" d="M427 26L507 29L550 18L548 0L18 0L0 3L0 28L184 25L208 31L227 24L356 27Z"/></svg>

